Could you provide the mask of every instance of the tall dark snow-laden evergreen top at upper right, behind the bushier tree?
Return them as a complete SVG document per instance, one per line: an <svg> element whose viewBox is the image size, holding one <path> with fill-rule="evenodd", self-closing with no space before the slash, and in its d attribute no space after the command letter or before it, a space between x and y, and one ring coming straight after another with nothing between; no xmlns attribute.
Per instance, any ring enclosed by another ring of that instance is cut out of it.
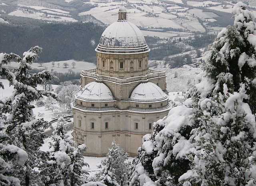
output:
<svg viewBox="0 0 256 186"><path fill-rule="evenodd" d="M209 77L218 80L220 73L230 73L234 91L238 92L244 83L247 100L256 113L256 24L254 15L246 10L246 4L238 3L233 8L234 26L224 28L211 46L211 53L205 71ZM253 81L254 80L254 81Z"/></svg>

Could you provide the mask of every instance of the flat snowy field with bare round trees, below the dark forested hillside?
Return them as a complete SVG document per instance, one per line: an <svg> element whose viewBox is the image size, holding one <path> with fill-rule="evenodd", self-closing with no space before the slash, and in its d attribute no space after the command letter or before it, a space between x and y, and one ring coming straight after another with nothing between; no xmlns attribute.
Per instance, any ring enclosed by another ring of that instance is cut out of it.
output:
<svg viewBox="0 0 256 186"><path fill-rule="evenodd" d="M72 68L72 62L75 62L75 68ZM32 63L31 67L32 68L37 68L37 69L42 69L44 70L47 68L48 71L53 71L56 72L62 72L62 73L68 73L68 70L72 70L75 73L81 72L84 69L93 69L96 68L96 65L94 63L89 63L86 61L76 61L76 60L67 60L67 61L54 61L55 65L52 67L52 62L47 62L47 63L42 63L42 67L40 67L40 63ZM58 63L60 63L60 67L58 67ZM68 67L64 68L63 64L68 63ZM16 62L11 62L10 64L7 65L8 67L18 67L18 63Z"/></svg>

